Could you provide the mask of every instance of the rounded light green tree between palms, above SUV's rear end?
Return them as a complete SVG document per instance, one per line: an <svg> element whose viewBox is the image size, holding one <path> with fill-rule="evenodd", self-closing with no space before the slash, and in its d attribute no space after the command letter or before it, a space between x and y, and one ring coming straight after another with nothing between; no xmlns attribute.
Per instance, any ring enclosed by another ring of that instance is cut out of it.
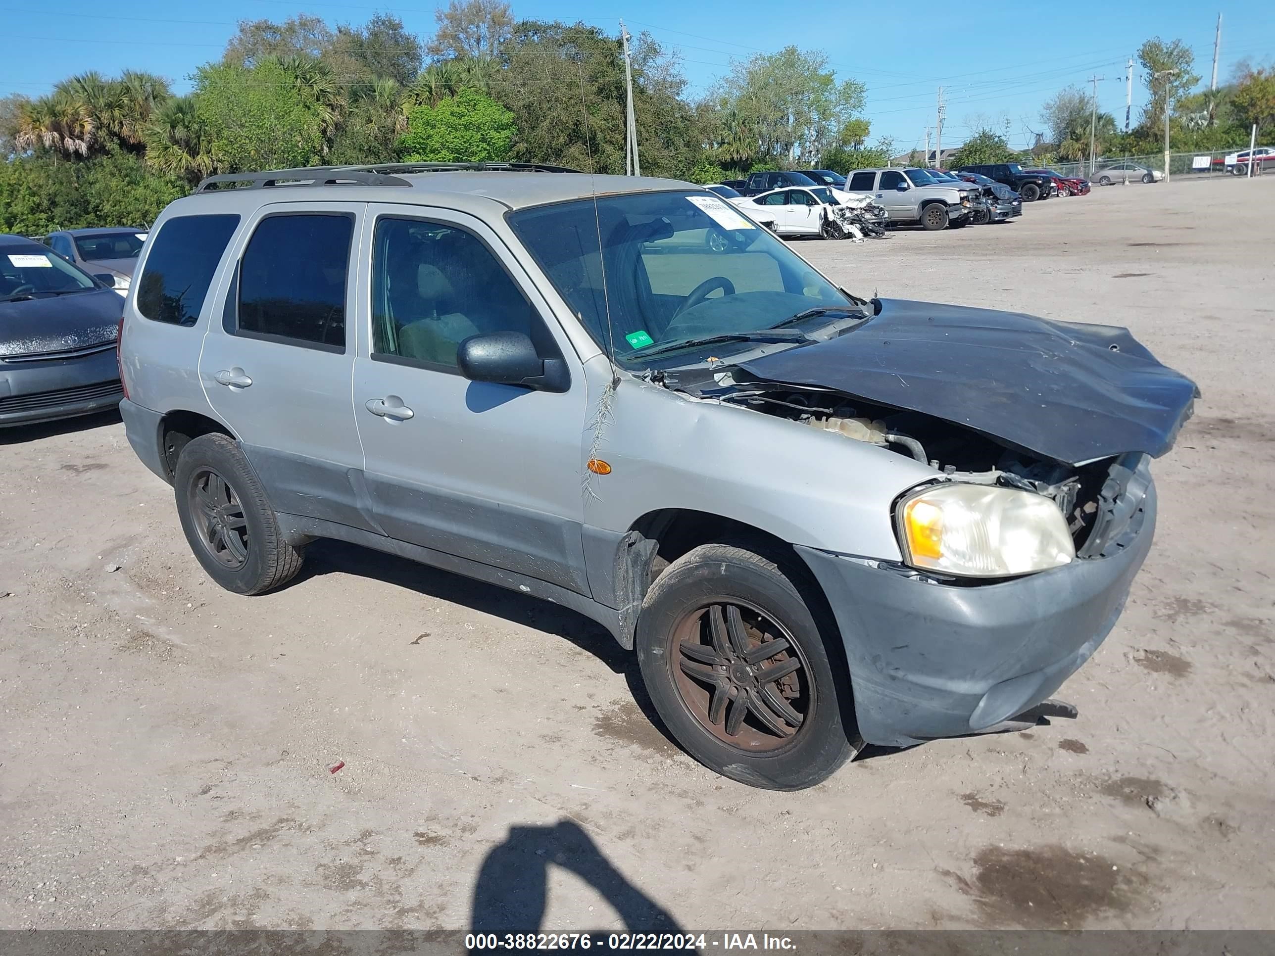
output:
<svg viewBox="0 0 1275 956"><path fill-rule="evenodd" d="M324 117L297 78L274 59L251 69L209 64L195 74L195 119L217 168L310 166L324 149Z"/></svg>

